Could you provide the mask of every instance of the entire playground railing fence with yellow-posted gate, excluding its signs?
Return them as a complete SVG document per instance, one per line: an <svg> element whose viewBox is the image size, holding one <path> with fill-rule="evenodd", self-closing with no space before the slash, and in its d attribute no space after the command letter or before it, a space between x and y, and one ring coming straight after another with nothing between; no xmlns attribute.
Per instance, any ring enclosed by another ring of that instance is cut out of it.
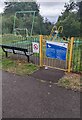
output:
<svg viewBox="0 0 82 120"><path fill-rule="evenodd" d="M51 68L56 68L64 71L82 71L82 41L81 38L68 39L68 41L63 39L55 39L55 42L67 43L67 54L66 60L54 59L46 56L46 42L50 41L48 36L31 36L31 37L22 37L15 36L13 34L3 35L2 36L2 45L8 45L11 47L18 47L21 49L28 49L28 52L33 51L33 43L38 43L39 52L33 52L30 56L30 62L40 65L40 67L48 66ZM18 57L24 58L19 55Z"/></svg>

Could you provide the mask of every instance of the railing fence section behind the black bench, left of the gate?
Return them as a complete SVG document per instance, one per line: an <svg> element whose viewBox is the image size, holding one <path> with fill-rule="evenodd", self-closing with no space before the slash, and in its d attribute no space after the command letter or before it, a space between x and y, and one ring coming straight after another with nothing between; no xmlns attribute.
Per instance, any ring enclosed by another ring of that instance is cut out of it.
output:
<svg viewBox="0 0 82 120"><path fill-rule="evenodd" d="M30 55L30 62L39 65L39 53L33 53L33 42L39 43L38 35L23 37L20 35L5 34L2 36L2 43L0 42L0 44L14 48L14 53L18 53L21 49L24 50L24 52ZM22 55L23 52L20 51L19 53L13 56L19 59L27 59L26 56ZM9 55L11 56L11 53Z"/></svg>

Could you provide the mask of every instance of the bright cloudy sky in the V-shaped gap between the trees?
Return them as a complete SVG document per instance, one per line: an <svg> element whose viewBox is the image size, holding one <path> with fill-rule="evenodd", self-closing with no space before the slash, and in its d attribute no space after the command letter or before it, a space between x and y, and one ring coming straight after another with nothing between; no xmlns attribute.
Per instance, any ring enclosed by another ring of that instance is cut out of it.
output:
<svg viewBox="0 0 82 120"><path fill-rule="evenodd" d="M63 1L63 0L62 0ZM67 1L66 1L67 2ZM61 12L64 10L65 2L58 2L57 0L54 2L39 2L40 3L40 14L44 18L48 18L51 22L56 22L58 16L61 15Z"/></svg>

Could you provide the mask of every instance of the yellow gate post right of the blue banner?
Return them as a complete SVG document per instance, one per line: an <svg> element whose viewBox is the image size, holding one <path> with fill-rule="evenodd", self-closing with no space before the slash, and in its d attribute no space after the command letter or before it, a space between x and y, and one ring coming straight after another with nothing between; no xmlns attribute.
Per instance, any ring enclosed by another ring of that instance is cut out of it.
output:
<svg viewBox="0 0 82 120"><path fill-rule="evenodd" d="M69 63L68 63L68 72L71 72L73 43L74 43L74 37L71 38L70 53L69 53L70 55L69 55Z"/></svg>

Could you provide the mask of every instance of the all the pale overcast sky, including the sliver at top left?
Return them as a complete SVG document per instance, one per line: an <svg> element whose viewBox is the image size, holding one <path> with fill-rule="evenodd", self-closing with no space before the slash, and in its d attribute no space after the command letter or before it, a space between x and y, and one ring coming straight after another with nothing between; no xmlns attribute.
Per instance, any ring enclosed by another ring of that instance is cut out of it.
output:
<svg viewBox="0 0 82 120"><path fill-rule="evenodd" d="M36 1L38 4L40 4L40 14L44 18L48 18L48 20L55 23L58 19L58 16L61 15L61 12L64 10L64 4L67 3L69 0L61 0L61 1L36 0ZM4 0L0 0L0 13L3 12L3 9L4 9Z"/></svg>

